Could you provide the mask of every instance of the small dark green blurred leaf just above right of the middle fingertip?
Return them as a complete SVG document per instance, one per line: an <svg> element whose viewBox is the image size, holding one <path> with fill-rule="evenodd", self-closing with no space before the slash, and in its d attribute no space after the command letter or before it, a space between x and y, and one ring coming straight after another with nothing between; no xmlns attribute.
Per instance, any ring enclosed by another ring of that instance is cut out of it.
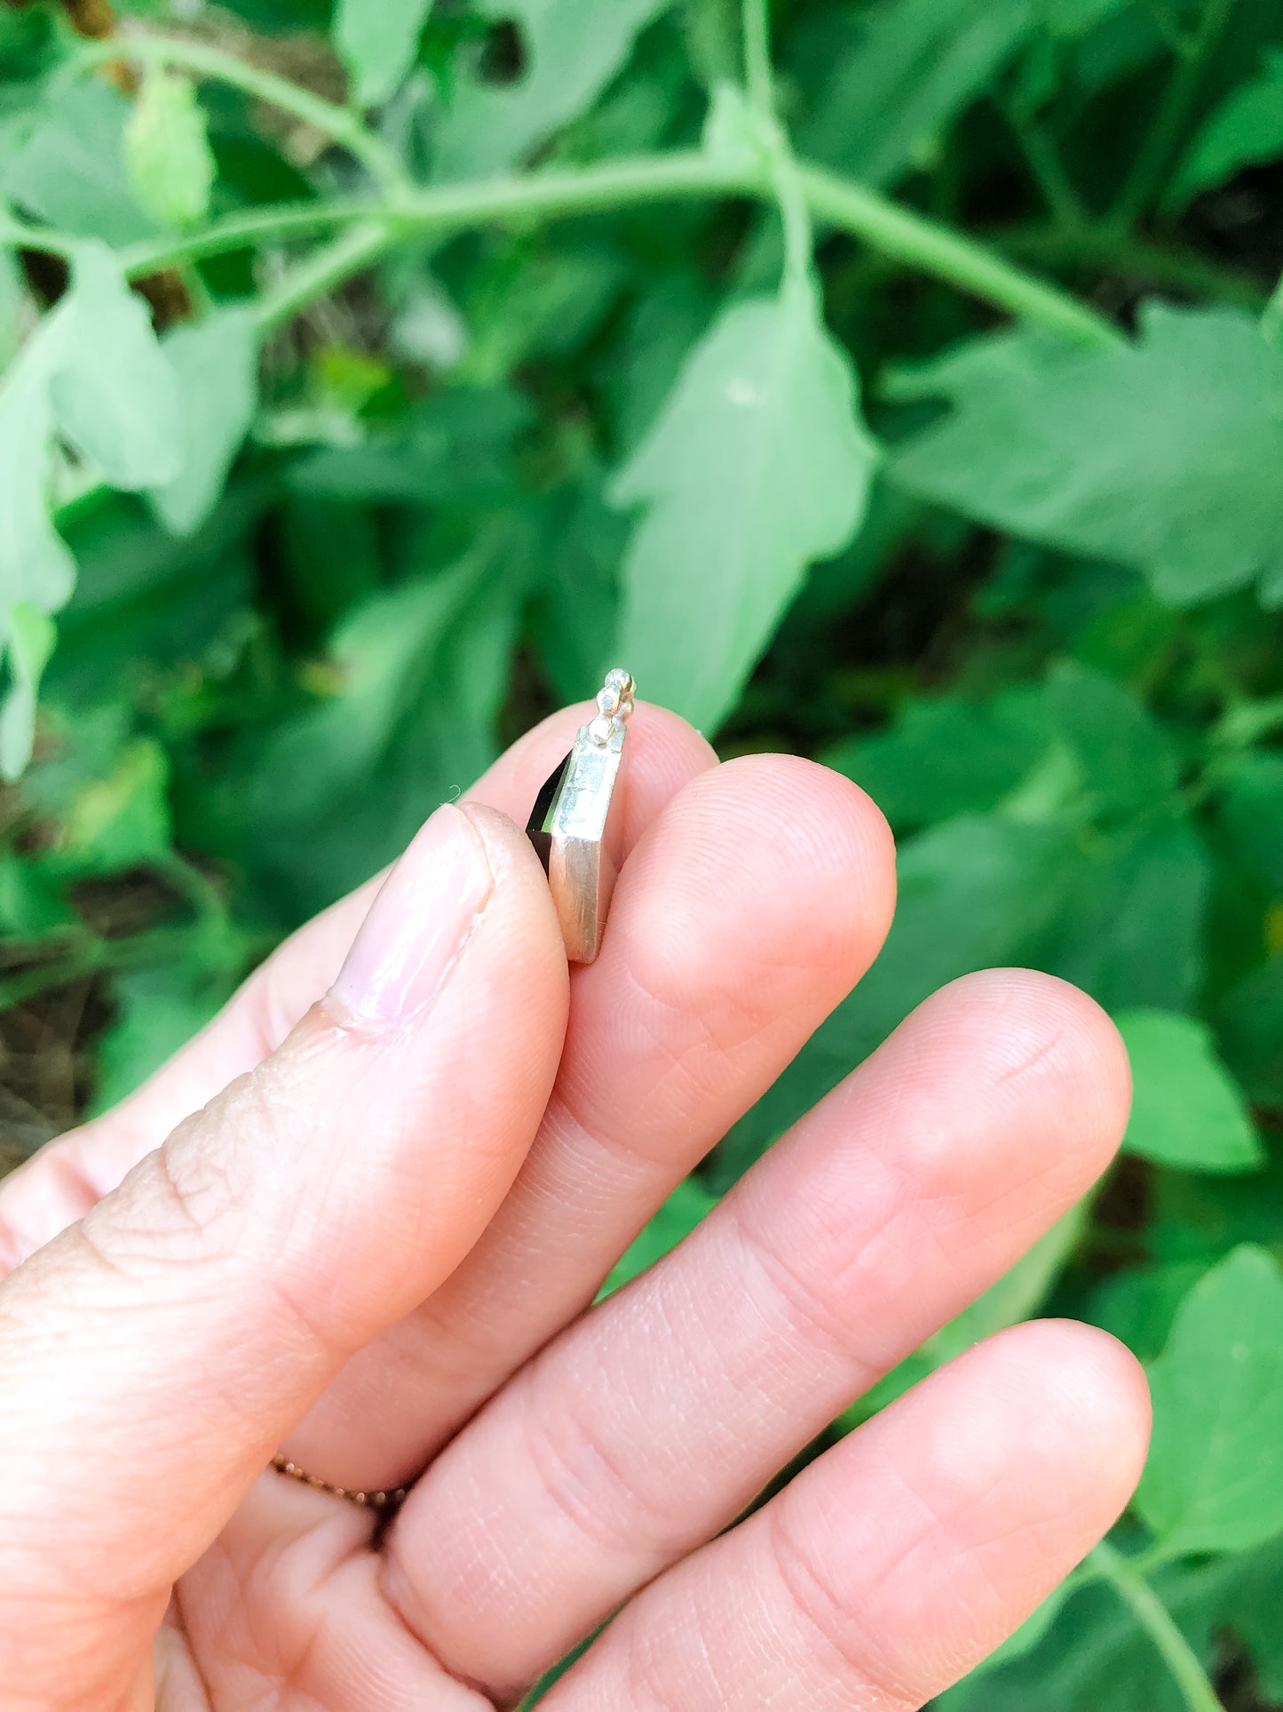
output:
<svg viewBox="0 0 1283 1712"><path fill-rule="evenodd" d="M1054 740L1042 690L905 702L891 731L850 738L819 758L847 774L893 827L922 827L996 808Z"/></svg>

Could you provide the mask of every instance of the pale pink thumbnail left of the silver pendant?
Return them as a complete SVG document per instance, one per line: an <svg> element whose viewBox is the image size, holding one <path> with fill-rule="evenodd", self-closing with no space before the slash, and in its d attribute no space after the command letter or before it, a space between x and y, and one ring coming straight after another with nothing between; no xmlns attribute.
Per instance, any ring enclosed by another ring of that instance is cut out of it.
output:
<svg viewBox="0 0 1283 1712"><path fill-rule="evenodd" d="M493 890L481 834L445 803L383 882L330 996L363 1022L395 1024L424 1010Z"/></svg>

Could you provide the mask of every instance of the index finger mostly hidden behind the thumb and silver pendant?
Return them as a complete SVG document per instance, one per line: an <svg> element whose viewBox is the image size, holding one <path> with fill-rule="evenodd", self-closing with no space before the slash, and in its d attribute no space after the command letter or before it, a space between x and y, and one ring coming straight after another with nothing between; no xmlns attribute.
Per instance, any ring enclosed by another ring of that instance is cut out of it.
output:
<svg viewBox="0 0 1283 1712"><path fill-rule="evenodd" d="M592 712L592 704L565 707L535 726L494 762L465 801L486 803L523 825L539 786ZM628 733L624 849L693 774L717 760L684 719L662 707L640 702ZM41 1149L0 1185L0 1274L82 1217L176 1123L275 1051L337 976L381 882L383 875L375 875L299 928L135 1094Z"/></svg>

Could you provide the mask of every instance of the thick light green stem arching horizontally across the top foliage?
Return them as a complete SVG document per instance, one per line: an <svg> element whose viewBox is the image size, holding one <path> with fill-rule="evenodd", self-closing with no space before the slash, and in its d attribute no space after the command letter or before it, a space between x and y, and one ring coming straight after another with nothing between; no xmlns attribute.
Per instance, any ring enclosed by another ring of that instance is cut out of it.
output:
<svg viewBox="0 0 1283 1712"><path fill-rule="evenodd" d="M797 164L797 183L814 219L860 238L872 250L896 262L917 267L960 291L982 298L994 308L1006 310L1079 344L1112 346L1122 341L1117 329L1076 298L1032 277L972 238L910 209L898 207L874 190L866 190L802 163ZM356 272L381 248L390 248L402 236L424 231L450 235L474 226L565 219L575 214L599 214L648 202L710 195L775 200L777 187L766 169L753 171L746 166L727 164L698 151L640 156L580 169L441 185L433 190L399 195L395 202L387 205L342 200L253 209L207 226L204 231L133 245L123 250L120 259L132 276L139 276L173 267L176 262L221 255L228 250L322 231L330 226L378 223L385 228L387 241L376 243L371 235L366 255L361 255L363 247L358 247L349 269ZM315 291L332 289L342 277L347 276L323 274L323 284L322 281L315 282ZM296 308L310 301L298 293L291 294L296 298ZM270 313L275 324L284 318L287 310L282 306Z"/></svg>

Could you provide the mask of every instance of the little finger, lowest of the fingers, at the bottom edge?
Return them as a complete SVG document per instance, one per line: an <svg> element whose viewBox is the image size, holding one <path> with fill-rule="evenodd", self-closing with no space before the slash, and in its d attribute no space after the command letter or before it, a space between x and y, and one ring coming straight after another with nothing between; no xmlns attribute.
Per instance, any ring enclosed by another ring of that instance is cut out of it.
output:
<svg viewBox="0 0 1283 1712"><path fill-rule="evenodd" d="M1110 1527L1148 1430L1144 1376L1103 1332L1004 1332L647 1589L542 1703L912 1712Z"/></svg>

